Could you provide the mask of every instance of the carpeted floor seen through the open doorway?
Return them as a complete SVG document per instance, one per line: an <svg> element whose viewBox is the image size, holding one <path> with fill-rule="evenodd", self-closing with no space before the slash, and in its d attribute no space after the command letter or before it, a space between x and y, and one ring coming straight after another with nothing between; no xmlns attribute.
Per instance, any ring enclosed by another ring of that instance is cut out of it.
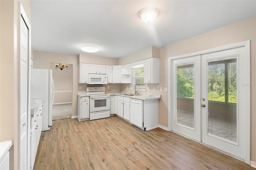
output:
<svg viewBox="0 0 256 170"><path fill-rule="evenodd" d="M62 105L52 105L52 120L71 118L72 103Z"/></svg>

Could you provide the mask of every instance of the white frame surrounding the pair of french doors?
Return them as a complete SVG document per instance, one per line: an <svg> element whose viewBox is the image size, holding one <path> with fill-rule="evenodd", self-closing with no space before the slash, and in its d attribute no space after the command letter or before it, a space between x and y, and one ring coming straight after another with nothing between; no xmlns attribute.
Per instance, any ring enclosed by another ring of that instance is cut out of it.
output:
<svg viewBox="0 0 256 170"><path fill-rule="evenodd" d="M188 53L184 55L178 55L175 57L168 57L168 130L172 131L172 61L174 59L181 59L181 58L186 58L186 57L193 57L196 55L202 55L202 54L207 54L207 53L213 53L217 51L223 51L227 49L232 49L232 48L237 48L237 47L245 47L246 50L246 82L242 83L242 86L246 86L246 158L244 162L246 164L250 164L250 40L244 41L244 42L238 42L238 43L233 43L229 45L224 45L221 47L216 47L216 48L211 48L211 49L206 49L202 51L197 51L194 53Z"/></svg>

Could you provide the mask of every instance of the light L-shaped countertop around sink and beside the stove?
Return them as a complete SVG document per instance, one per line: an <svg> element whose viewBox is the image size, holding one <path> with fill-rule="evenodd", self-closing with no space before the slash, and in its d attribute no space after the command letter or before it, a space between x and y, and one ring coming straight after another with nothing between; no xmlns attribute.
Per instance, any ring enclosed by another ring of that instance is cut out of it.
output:
<svg viewBox="0 0 256 170"><path fill-rule="evenodd" d="M137 96L128 96L125 94L130 94L130 91L106 91L105 94L109 95L118 95L122 97L129 97L132 99L139 99L139 100L158 100L161 99L161 95L157 94L149 94L149 93L141 93L140 95ZM86 95L86 92L78 92L77 95L79 97L90 97L90 95Z"/></svg>

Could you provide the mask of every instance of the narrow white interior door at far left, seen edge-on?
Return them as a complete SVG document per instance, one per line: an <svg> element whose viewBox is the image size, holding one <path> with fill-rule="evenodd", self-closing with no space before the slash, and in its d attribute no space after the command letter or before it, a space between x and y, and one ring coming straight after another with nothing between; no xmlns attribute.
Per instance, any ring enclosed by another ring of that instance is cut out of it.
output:
<svg viewBox="0 0 256 170"><path fill-rule="evenodd" d="M28 27L20 16L19 169L27 169L28 131Z"/></svg>

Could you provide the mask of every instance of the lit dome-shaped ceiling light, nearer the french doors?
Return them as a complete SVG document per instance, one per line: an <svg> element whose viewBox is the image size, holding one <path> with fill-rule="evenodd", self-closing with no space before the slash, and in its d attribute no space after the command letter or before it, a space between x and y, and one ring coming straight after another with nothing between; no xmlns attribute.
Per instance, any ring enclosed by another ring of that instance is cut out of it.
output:
<svg viewBox="0 0 256 170"><path fill-rule="evenodd" d="M159 14L159 10L154 7L143 8L139 12L139 16L142 21L150 23L156 19Z"/></svg>

